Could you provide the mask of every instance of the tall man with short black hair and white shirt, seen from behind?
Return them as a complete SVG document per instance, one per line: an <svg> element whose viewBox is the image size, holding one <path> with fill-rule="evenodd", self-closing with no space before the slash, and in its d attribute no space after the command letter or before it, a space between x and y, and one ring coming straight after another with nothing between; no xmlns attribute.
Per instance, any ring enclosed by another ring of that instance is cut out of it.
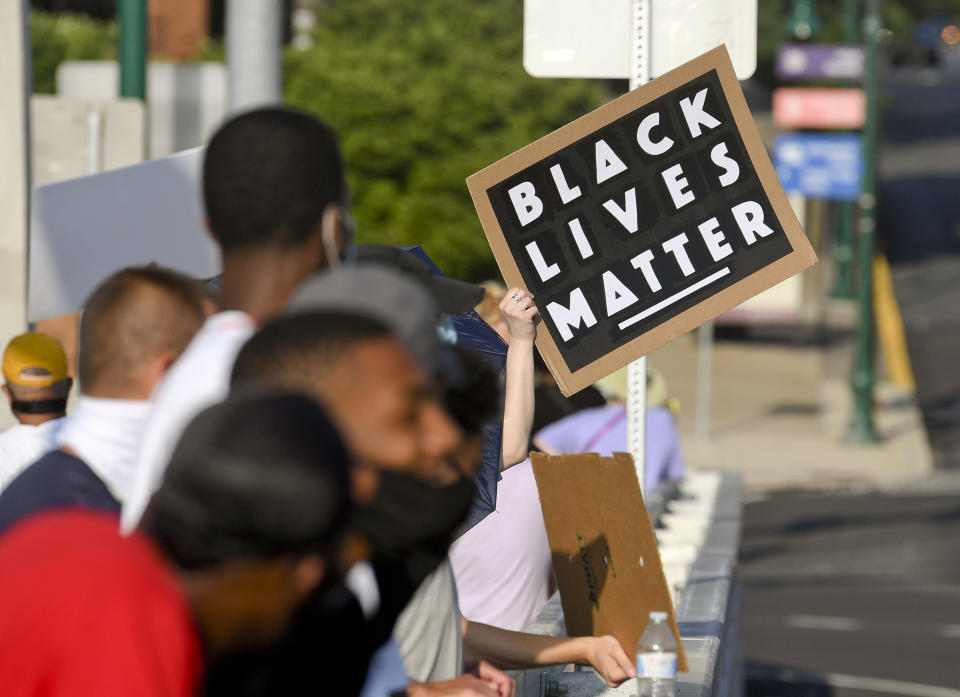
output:
<svg viewBox="0 0 960 697"><path fill-rule="evenodd" d="M343 162L333 131L285 108L236 116L203 163L207 227L220 248L222 310L211 316L158 387L122 529L136 527L190 419L228 391L233 360L256 327L278 315L300 282L339 263L352 235Z"/></svg>

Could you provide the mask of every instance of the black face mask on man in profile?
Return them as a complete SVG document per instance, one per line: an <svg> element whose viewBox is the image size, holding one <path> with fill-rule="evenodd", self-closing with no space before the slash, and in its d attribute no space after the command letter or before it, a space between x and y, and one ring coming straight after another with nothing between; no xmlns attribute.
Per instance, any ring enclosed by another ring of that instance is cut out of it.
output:
<svg viewBox="0 0 960 697"><path fill-rule="evenodd" d="M416 587L446 556L470 510L473 486L468 477L433 486L383 470L373 501L357 507L354 525L370 540L375 556L402 562Z"/></svg>

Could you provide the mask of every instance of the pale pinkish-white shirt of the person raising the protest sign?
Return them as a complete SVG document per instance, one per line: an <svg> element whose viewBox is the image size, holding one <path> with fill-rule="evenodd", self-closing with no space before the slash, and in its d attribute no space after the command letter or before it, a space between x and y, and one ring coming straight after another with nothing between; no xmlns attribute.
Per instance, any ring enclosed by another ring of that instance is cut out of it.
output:
<svg viewBox="0 0 960 697"><path fill-rule="evenodd" d="M450 563L460 612L473 622L519 631L550 599L550 543L529 458L504 471L497 510L453 543Z"/></svg>

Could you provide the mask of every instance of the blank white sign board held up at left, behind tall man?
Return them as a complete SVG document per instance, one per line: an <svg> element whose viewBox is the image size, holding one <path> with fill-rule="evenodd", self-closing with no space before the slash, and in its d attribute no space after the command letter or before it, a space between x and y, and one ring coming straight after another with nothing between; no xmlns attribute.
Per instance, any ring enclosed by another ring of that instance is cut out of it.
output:
<svg viewBox="0 0 960 697"><path fill-rule="evenodd" d="M38 186L30 214L27 318L79 310L127 266L156 262L197 278L220 272L203 225L204 148Z"/></svg>

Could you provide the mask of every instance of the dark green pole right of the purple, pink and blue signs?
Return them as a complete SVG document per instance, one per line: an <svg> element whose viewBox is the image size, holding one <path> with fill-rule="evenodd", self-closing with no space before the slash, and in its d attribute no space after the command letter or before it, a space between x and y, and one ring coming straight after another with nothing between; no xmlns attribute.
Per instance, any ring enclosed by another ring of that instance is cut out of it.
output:
<svg viewBox="0 0 960 697"><path fill-rule="evenodd" d="M854 411L847 430L851 443L877 440L873 424L873 244L876 229L877 154L877 53L880 33L880 0L866 0L863 41L866 48L863 83L867 93L867 118L863 125L863 185L860 193L857 286L860 326L857 331L856 364L851 376Z"/></svg>

